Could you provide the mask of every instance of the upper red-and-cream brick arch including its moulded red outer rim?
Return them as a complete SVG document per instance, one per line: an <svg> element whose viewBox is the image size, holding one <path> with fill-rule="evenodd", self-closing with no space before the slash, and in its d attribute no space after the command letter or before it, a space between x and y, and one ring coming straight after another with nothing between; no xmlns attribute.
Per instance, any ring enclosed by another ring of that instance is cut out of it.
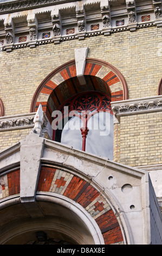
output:
<svg viewBox="0 0 162 256"><path fill-rule="evenodd" d="M63 64L51 72L37 88L30 112L35 112L42 105L49 121L51 113L61 103L80 92L98 91L111 96L112 101L128 99L125 78L111 64L102 60L86 58L84 72L86 84L81 86L76 76L75 60Z"/></svg>

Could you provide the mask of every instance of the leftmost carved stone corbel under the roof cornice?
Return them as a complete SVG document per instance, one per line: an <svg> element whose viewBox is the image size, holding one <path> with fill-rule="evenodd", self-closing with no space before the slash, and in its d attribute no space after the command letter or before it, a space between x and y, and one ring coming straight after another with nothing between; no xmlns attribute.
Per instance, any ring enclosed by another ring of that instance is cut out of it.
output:
<svg viewBox="0 0 162 256"><path fill-rule="evenodd" d="M15 25L12 21L12 17L9 15L4 20L4 30L5 30L5 44L4 48L7 52L12 51L14 41L15 41Z"/></svg>

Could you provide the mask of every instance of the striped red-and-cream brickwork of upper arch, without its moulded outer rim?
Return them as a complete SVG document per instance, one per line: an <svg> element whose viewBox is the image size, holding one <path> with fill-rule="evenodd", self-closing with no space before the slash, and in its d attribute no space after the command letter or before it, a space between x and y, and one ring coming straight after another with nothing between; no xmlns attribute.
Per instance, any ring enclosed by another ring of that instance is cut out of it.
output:
<svg viewBox="0 0 162 256"><path fill-rule="evenodd" d="M57 72L41 89L37 97L35 111L41 103L44 113L51 122L51 113L55 109L58 109L68 97L85 90L102 91L111 96L112 101L123 100L122 84L118 76L106 66L87 62L84 75L88 86L79 85L75 64Z"/></svg>

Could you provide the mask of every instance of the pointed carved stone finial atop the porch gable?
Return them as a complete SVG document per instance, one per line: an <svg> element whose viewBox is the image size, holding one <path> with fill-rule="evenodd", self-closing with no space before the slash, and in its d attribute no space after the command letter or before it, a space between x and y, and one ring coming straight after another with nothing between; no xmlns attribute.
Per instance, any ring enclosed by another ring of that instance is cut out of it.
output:
<svg viewBox="0 0 162 256"><path fill-rule="evenodd" d="M38 110L36 112L36 115L34 117L34 129L33 131L38 133L39 135L42 135L42 125L43 125L43 110L42 105L38 107Z"/></svg>

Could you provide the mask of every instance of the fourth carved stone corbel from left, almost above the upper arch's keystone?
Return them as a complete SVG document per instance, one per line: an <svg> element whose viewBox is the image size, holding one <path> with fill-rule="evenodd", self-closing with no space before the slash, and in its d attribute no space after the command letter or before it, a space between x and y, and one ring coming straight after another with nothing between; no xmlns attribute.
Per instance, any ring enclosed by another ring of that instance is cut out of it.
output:
<svg viewBox="0 0 162 256"><path fill-rule="evenodd" d="M79 40L85 39L86 35L86 13L83 5L76 5L76 19Z"/></svg>

